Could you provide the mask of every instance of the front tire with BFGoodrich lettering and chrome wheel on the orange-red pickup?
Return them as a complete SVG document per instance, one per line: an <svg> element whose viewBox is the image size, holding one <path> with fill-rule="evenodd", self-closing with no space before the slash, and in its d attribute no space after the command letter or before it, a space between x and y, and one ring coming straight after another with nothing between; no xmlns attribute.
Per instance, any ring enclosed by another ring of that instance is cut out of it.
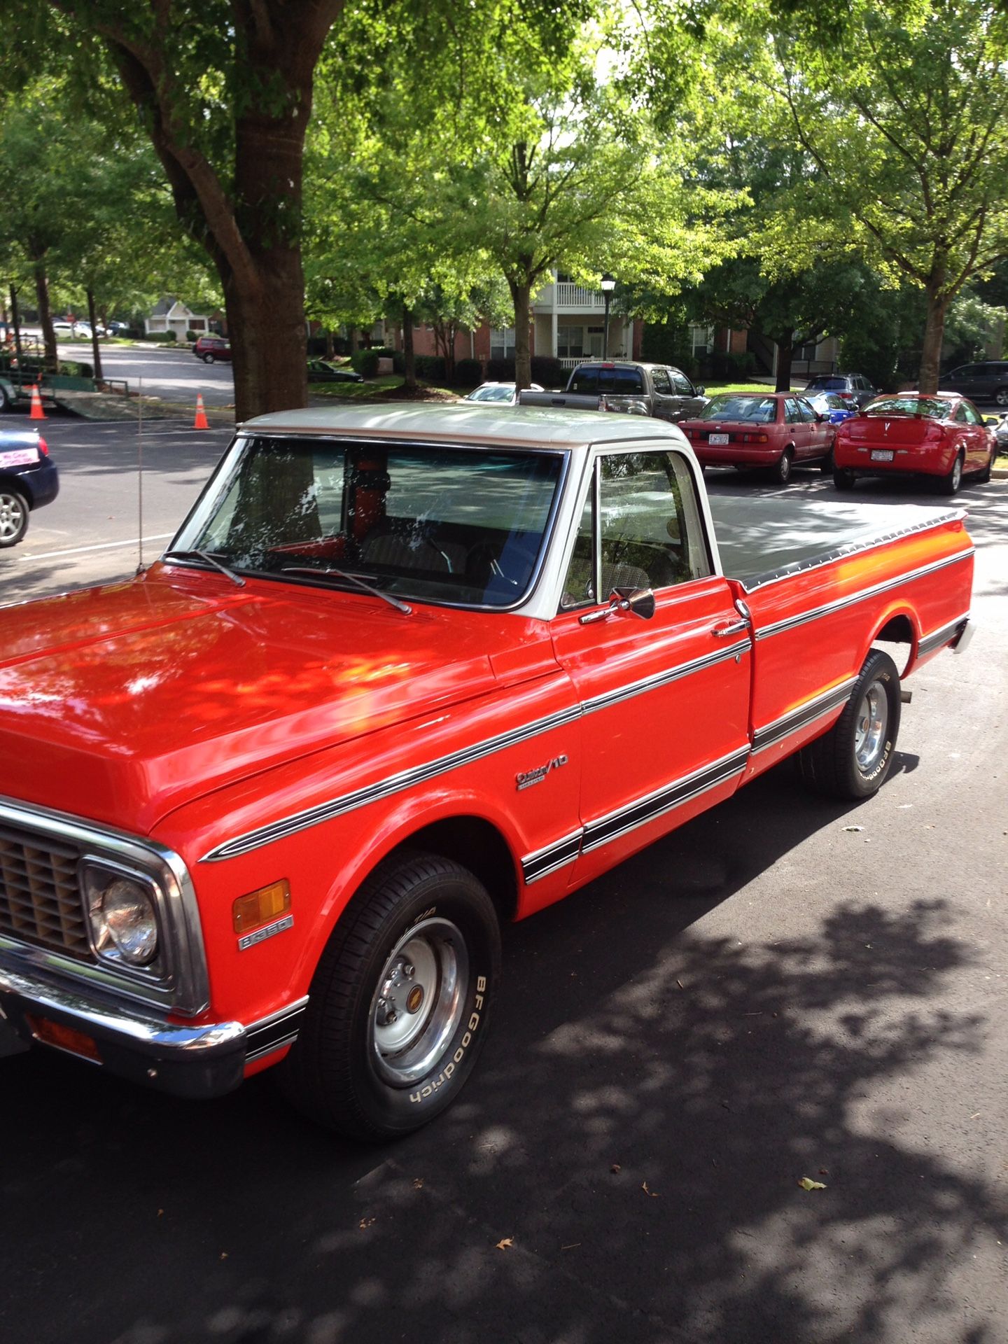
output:
<svg viewBox="0 0 1008 1344"><path fill-rule="evenodd" d="M323 953L288 1095L348 1138L419 1129L472 1073L499 974L497 915L470 872L418 852L382 864Z"/></svg>

